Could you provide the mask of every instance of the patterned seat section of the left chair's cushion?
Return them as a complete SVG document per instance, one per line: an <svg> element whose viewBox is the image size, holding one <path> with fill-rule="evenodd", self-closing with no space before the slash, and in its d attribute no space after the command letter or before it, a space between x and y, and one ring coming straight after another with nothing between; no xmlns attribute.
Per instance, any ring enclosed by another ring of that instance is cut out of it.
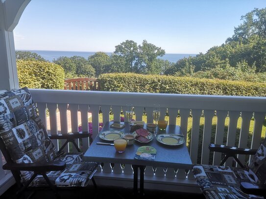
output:
<svg viewBox="0 0 266 199"><path fill-rule="evenodd" d="M90 179L97 171L97 162L82 161L82 154L63 154L55 158L54 161L65 161L66 169L63 171L51 171L47 176L52 184L57 187L84 187L88 186ZM30 186L47 186L47 182L43 176L38 175L30 184Z"/></svg>

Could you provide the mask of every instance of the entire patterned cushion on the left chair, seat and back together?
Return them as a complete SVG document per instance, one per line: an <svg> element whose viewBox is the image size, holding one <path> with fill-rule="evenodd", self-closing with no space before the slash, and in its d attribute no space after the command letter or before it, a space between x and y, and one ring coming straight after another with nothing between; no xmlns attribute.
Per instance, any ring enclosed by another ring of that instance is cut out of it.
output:
<svg viewBox="0 0 266 199"><path fill-rule="evenodd" d="M65 170L48 172L51 182L58 186L87 186L98 166L97 162L83 162L82 154L59 156L27 88L0 94L0 138L16 163L66 161ZM21 171L22 182L32 175L33 172ZM31 183L39 185L47 185L42 176Z"/></svg>

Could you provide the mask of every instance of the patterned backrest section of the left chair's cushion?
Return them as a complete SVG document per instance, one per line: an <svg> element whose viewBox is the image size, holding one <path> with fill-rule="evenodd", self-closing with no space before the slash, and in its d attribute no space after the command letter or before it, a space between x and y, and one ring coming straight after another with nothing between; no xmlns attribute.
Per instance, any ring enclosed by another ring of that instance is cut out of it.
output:
<svg viewBox="0 0 266 199"><path fill-rule="evenodd" d="M55 147L27 88L0 94L0 137L14 162L32 163L55 158ZM22 172L24 179L31 176L31 172Z"/></svg>

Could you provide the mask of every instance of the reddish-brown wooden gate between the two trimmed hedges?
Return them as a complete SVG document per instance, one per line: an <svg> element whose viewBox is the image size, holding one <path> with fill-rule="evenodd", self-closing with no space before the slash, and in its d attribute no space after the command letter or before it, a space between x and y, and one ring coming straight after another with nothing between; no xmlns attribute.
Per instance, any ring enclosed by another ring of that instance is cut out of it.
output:
<svg viewBox="0 0 266 199"><path fill-rule="evenodd" d="M66 79L65 90L99 90L99 83L96 78L74 78Z"/></svg>

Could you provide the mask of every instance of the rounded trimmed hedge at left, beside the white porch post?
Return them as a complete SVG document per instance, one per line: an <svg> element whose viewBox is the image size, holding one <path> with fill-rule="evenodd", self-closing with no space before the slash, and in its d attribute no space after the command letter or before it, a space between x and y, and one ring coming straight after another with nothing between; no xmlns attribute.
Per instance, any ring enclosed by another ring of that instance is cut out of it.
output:
<svg viewBox="0 0 266 199"><path fill-rule="evenodd" d="M64 69L50 62L17 60L20 87L64 89Z"/></svg>

